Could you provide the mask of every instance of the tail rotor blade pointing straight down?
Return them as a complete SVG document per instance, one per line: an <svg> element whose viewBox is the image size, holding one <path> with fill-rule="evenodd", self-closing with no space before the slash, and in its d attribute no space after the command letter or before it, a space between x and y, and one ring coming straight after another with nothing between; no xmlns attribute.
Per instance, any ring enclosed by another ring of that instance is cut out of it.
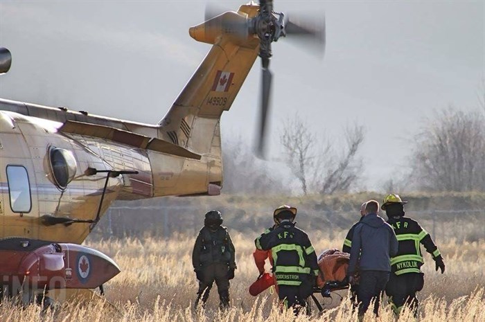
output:
<svg viewBox="0 0 485 322"><path fill-rule="evenodd" d="M273 75L269 69L270 59L262 57L261 69L261 106L260 106L260 118L259 118L259 138L256 155L261 159L265 159L265 141L266 141L266 123L267 115L270 111L270 98L271 98L271 82Z"/></svg>

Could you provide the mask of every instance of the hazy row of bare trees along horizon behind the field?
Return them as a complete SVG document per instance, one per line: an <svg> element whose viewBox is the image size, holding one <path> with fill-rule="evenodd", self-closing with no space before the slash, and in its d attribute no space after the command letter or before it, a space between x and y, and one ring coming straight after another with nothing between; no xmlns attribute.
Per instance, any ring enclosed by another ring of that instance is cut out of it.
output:
<svg viewBox="0 0 485 322"><path fill-rule="evenodd" d="M283 174L274 163L257 159L246 141L227 138L223 145L224 192L331 195L359 190L366 170L360 151L365 128L358 124L347 127L341 135L343 144L338 146L311 129L298 114L283 124L282 152L277 160L288 169ZM409 166L396 170L398 175L386 181L383 190L485 191L485 106L483 111L453 107L436 111L423 122L408 150ZM290 188L295 181L297 191Z"/></svg>

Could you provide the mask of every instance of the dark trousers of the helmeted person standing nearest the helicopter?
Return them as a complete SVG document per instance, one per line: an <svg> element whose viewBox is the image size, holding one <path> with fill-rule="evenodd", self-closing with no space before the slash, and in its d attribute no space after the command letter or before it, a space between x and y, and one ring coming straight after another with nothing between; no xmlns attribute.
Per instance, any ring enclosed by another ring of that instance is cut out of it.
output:
<svg viewBox="0 0 485 322"><path fill-rule="evenodd" d="M202 269L202 280L199 280L199 290L197 291L197 300L195 300L195 307L200 304L205 305L209 298L212 285L218 286L220 307L229 307L229 278L227 278L227 264L213 263Z"/></svg>

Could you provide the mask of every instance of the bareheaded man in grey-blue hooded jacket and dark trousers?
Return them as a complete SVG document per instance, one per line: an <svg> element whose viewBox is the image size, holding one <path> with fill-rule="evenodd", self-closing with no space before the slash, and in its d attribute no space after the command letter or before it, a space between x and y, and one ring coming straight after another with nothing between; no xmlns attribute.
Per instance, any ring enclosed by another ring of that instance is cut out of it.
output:
<svg viewBox="0 0 485 322"><path fill-rule="evenodd" d="M385 290L391 271L391 257L398 252L398 240L394 229L378 216L379 203L369 200L365 215L355 227L351 258L347 275L353 284L353 275L359 265L360 284L357 294L359 316L362 318L375 299L374 314L378 314L380 295Z"/></svg>

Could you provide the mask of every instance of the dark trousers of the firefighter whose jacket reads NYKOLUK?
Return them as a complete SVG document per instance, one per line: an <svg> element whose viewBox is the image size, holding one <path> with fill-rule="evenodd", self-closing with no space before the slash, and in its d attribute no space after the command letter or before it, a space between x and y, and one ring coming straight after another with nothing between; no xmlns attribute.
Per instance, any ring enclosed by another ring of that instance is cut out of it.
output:
<svg viewBox="0 0 485 322"><path fill-rule="evenodd" d="M416 292L421 291L423 285L423 273L391 274L389 283L387 283L386 294L389 296L389 302L396 315L399 315L404 305L409 305L411 310L414 311L414 316L416 316L419 305Z"/></svg>

